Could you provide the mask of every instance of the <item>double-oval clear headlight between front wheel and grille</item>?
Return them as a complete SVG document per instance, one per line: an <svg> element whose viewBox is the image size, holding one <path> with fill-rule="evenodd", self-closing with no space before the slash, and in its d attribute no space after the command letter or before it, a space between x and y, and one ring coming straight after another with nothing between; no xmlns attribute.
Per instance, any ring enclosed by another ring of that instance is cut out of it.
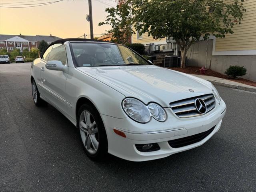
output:
<svg viewBox="0 0 256 192"><path fill-rule="evenodd" d="M151 116L160 122L166 120L164 109L156 103L150 103L146 106L140 100L126 98L122 102L122 107L130 118L140 123L149 122Z"/></svg>

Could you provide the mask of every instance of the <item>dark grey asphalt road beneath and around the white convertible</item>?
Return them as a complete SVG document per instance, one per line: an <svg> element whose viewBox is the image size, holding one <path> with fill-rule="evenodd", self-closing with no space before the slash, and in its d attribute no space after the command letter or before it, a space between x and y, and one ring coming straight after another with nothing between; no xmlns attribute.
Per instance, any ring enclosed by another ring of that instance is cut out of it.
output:
<svg viewBox="0 0 256 192"><path fill-rule="evenodd" d="M93 162L68 119L34 105L30 64L1 64L0 191L256 191L256 94L217 89L228 109L204 145L148 162Z"/></svg>

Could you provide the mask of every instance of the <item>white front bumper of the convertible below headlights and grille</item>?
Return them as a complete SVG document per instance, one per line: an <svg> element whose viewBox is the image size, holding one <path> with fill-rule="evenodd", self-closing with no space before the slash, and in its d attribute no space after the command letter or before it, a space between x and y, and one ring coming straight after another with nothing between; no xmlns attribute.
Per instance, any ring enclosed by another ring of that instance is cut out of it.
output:
<svg viewBox="0 0 256 192"><path fill-rule="evenodd" d="M128 117L118 119L101 115L108 136L108 152L130 161L146 161L164 158L200 146L220 129L222 118L226 113L226 104L222 100L221 105L217 104L208 114L192 118L178 118L170 108L165 108L165 110L168 116L166 122L158 122L152 119L147 124L134 122ZM168 144L170 140L202 133L212 127L214 129L208 136L194 144L179 148L172 148ZM124 132L126 138L116 134L114 128ZM135 144L151 143L157 143L160 150L140 152L135 146Z"/></svg>

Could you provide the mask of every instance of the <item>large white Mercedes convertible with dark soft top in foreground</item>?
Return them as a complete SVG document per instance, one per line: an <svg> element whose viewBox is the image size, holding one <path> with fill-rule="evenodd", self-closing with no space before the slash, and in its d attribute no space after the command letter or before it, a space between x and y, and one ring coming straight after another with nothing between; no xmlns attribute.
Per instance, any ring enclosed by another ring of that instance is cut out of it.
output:
<svg viewBox="0 0 256 192"><path fill-rule="evenodd" d="M210 82L110 42L53 42L32 62L31 83L34 103L50 103L77 126L92 159L108 152L145 161L200 146L226 113Z"/></svg>

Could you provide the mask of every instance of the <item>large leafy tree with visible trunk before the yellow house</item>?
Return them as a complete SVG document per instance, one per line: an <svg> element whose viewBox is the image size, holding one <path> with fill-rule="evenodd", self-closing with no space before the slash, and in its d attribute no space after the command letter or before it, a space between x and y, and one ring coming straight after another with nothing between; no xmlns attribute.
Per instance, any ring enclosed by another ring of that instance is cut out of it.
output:
<svg viewBox="0 0 256 192"><path fill-rule="evenodd" d="M132 4L133 22L140 33L158 38L172 38L180 48L181 68L190 46L210 34L224 38L240 24L244 0L225 4L223 0L128 0ZM114 14L114 10L111 12Z"/></svg>

